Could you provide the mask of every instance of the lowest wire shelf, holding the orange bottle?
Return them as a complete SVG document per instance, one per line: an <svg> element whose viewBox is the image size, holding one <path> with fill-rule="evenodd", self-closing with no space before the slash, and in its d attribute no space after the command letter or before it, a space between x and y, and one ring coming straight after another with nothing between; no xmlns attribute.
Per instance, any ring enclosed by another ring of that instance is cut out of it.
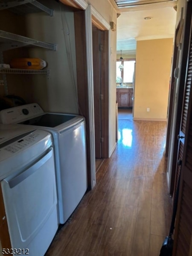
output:
<svg viewBox="0 0 192 256"><path fill-rule="evenodd" d="M0 68L0 74L37 74L37 75L49 75L50 70L26 70L17 68Z"/></svg>

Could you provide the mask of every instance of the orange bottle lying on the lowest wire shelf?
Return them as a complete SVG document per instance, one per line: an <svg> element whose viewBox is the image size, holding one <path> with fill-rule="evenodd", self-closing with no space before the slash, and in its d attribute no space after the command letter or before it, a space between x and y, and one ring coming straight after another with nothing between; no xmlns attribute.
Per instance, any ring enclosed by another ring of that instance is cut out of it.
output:
<svg viewBox="0 0 192 256"><path fill-rule="evenodd" d="M46 61L40 58L15 58L10 62L12 68L41 70L47 66Z"/></svg>

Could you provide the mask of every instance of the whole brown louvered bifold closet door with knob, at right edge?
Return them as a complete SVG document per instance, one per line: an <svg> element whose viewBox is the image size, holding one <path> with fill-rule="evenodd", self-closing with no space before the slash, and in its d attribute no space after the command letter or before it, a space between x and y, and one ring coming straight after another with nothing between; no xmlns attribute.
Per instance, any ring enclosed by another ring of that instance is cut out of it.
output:
<svg viewBox="0 0 192 256"><path fill-rule="evenodd" d="M189 64L180 136L185 136L177 219L175 225L173 256L192 255L192 39L189 49Z"/></svg>

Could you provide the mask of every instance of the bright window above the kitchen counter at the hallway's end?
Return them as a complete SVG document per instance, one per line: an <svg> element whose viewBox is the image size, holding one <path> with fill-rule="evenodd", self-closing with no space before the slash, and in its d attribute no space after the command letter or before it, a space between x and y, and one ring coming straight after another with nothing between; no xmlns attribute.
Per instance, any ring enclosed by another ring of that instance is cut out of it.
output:
<svg viewBox="0 0 192 256"><path fill-rule="evenodd" d="M123 69L119 68L123 65ZM135 60L116 61L116 83L132 84L134 81Z"/></svg>

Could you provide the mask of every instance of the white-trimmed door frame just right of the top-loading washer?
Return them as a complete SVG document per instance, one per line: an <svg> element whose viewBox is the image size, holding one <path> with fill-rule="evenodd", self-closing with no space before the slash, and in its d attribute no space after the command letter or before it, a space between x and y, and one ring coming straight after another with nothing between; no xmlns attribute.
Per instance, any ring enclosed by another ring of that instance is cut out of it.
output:
<svg viewBox="0 0 192 256"><path fill-rule="evenodd" d="M99 12L96 11L96 9L93 8L90 4L88 5L87 9L85 10L85 30L86 30L86 48L87 48L87 80L88 80L88 109L89 109L89 128L90 128L90 181L91 181L91 189L96 184L96 169L95 169L95 132L94 132L94 94L93 94L93 49L92 49L92 23L94 26L96 26L100 30L109 30L110 24L99 14ZM109 40L107 42L109 45ZM108 47L109 48L109 47ZM106 52L109 58L109 51ZM103 69L102 69L103 70ZM109 65L106 71L109 70ZM103 70L104 73L104 70ZM107 72L106 80L108 83L106 84L104 91L105 94L108 94L109 90L109 76ZM109 97L108 95L104 95ZM101 118L102 122L104 120L108 120L108 109L109 104L105 105L107 108L106 111L102 111ZM105 125L102 127L104 128L104 133L108 134L108 125ZM102 143L103 144L103 143ZM108 141L105 141L105 151L109 151L109 143ZM103 146L102 146L103 147ZM107 157L107 156L106 156Z"/></svg>

